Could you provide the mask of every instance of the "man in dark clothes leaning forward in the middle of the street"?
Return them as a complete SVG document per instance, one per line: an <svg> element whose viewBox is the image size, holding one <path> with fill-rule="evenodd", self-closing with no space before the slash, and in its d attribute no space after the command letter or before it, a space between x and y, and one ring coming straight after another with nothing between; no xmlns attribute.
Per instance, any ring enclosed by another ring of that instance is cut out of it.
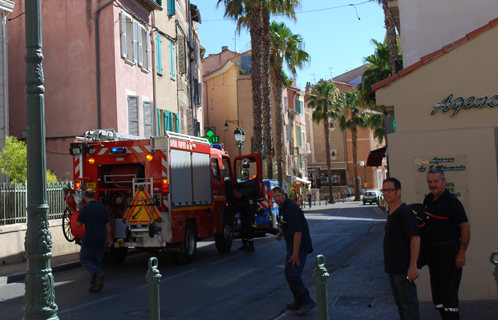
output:
<svg viewBox="0 0 498 320"><path fill-rule="evenodd" d="M280 231L275 240L285 239L287 255L285 257L285 279L294 295L294 302L287 303L286 308L297 310L298 316L304 316L316 306L311 300L310 292L304 286L301 274L303 273L306 257L313 252L308 222L303 210L292 200L288 199L280 187L271 191L273 200L278 204L280 214Z"/></svg>

